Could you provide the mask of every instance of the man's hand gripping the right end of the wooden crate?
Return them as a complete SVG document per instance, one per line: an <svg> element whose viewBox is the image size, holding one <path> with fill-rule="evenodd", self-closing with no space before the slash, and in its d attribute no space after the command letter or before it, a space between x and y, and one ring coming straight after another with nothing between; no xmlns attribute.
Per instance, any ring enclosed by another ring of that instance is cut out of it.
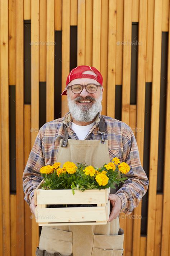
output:
<svg viewBox="0 0 170 256"><path fill-rule="evenodd" d="M112 221L113 219L116 219L117 216L119 216L119 213L122 208L121 198L118 197L117 195L109 194L109 200L110 200L110 203L112 204L112 211L110 213L108 222Z"/></svg>

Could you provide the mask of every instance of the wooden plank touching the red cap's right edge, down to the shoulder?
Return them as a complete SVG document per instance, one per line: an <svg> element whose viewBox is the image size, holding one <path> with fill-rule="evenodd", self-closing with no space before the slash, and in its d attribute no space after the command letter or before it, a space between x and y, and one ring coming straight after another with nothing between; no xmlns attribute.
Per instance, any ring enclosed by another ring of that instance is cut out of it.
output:
<svg viewBox="0 0 170 256"><path fill-rule="evenodd" d="M101 62L100 72L103 76L103 101L101 114L106 115L107 106L107 61L108 61L108 8L109 1L101 0Z"/></svg>

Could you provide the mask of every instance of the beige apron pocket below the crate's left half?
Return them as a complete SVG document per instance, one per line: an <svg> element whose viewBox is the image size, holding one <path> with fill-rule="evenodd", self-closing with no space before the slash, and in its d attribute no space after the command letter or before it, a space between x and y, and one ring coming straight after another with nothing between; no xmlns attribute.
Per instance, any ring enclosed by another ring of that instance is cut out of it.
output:
<svg viewBox="0 0 170 256"><path fill-rule="evenodd" d="M61 253L63 256L72 253L72 232L43 226L39 237L39 249L49 253Z"/></svg>

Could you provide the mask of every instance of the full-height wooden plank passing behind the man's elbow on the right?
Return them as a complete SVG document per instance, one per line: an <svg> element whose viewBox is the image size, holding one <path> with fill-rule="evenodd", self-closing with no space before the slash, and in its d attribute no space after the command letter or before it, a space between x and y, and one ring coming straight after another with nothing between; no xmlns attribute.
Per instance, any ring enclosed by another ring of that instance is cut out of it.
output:
<svg viewBox="0 0 170 256"><path fill-rule="evenodd" d="M147 0L140 1L139 6L139 27L138 40L138 73L137 73L137 120L136 120L136 141L140 153L140 160L143 163L144 127L145 127L145 73L146 73L146 38L147 38ZM141 132L138 132L141 131ZM141 202L134 208L134 215L141 215ZM133 254L140 256L141 218L136 218L133 223Z"/></svg>

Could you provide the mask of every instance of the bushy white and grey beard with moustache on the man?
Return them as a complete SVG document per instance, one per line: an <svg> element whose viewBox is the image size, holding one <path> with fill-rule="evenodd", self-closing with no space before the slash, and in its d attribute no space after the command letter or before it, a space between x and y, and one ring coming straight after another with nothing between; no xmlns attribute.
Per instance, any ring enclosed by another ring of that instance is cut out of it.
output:
<svg viewBox="0 0 170 256"><path fill-rule="evenodd" d="M79 97L79 100L86 99L86 100L93 100L92 105L78 105L76 103L76 99L72 100L70 99L70 96L67 92L67 100L68 100L68 106L69 111L71 113L71 116L79 122L90 122L92 121L98 113L102 110L101 100L102 100L102 93L100 94L98 99L94 99L90 96L87 96L86 98ZM77 97L78 99L78 97Z"/></svg>

